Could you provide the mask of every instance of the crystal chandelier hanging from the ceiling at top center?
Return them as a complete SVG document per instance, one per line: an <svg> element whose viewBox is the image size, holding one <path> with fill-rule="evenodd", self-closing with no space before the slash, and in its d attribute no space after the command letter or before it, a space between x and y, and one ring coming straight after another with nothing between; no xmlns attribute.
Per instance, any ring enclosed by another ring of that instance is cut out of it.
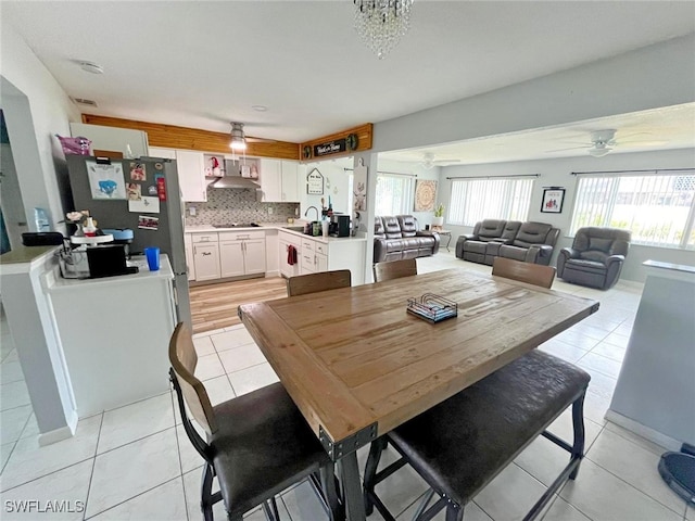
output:
<svg viewBox="0 0 695 521"><path fill-rule="evenodd" d="M353 0L355 30L382 60L410 27L414 0Z"/></svg>

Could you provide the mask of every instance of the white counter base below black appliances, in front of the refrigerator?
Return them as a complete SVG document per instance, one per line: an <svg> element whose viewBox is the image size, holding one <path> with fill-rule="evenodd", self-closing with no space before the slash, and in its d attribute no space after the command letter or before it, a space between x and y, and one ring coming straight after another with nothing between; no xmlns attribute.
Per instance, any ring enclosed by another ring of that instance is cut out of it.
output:
<svg viewBox="0 0 695 521"><path fill-rule="evenodd" d="M135 257L138 274L42 281L55 316L80 418L168 389L168 341L176 326L174 272Z"/></svg>

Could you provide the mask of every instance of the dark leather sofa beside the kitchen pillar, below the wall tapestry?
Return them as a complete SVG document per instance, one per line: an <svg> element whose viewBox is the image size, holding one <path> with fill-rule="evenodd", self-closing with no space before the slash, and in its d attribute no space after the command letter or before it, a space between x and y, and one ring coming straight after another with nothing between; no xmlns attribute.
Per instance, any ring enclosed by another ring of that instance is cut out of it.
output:
<svg viewBox="0 0 695 521"><path fill-rule="evenodd" d="M374 262L434 255L439 251L439 233L420 231L412 215L375 217Z"/></svg>

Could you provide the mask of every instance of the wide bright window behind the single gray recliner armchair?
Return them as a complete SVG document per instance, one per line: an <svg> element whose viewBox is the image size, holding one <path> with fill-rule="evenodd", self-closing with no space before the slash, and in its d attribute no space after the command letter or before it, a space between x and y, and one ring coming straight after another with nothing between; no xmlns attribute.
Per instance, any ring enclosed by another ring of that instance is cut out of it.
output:
<svg viewBox="0 0 695 521"><path fill-rule="evenodd" d="M570 232L632 231L632 242L695 249L695 170L579 175Z"/></svg>

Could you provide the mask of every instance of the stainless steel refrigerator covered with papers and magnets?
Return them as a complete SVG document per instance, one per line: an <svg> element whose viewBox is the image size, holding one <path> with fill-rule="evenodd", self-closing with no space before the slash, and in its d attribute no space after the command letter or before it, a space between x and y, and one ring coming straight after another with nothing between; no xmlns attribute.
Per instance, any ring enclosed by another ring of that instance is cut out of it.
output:
<svg viewBox="0 0 695 521"><path fill-rule="evenodd" d="M176 161L67 155L70 189L75 211L88 209L100 229L132 230L130 255L159 246L174 269L174 294L178 320L191 326L184 202Z"/></svg>

